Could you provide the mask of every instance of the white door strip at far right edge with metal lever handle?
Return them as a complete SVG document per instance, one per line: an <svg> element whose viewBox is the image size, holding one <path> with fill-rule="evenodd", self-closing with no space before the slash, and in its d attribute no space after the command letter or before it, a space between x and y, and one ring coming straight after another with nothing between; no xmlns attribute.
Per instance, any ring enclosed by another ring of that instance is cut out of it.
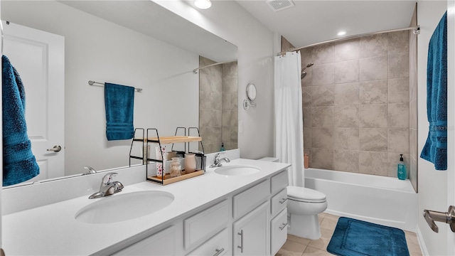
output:
<svg viewBox="0 0 455 256"><path fill-rule="evenodd" d="M447 1L447 206L455 206L455 1ZM446 225L438 223L438 225ZM455 233L447 228L447 255L455 255Z"/></svg>

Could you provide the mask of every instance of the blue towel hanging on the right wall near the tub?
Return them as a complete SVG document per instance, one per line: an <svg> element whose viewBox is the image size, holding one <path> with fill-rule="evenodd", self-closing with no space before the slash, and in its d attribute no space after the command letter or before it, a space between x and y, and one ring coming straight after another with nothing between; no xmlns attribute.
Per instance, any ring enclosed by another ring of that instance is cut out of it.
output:
<svg viewBox="0 0 455 256"><path fill-rule="evenodd" d="M427 63L429 132L420 157L437 170L447 169L447 12L429 41Z"/></svg>

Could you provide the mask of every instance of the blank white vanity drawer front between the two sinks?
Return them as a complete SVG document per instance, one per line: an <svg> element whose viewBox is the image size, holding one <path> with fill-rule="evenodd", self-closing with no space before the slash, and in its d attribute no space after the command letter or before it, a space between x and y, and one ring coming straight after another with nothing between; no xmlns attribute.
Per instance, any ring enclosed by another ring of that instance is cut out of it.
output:
<svg viewBox="0 0 455 256"><path fill-rule="evenodd" d="M185 249L200 245L223 228L229 221L229 204L225 200L184 220Z"/></svg>

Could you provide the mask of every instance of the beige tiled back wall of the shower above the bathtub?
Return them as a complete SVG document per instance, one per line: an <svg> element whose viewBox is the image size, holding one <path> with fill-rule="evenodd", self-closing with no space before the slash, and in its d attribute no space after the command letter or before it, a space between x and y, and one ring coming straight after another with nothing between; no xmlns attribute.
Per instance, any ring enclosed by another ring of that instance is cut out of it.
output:
<svg viewBox="0 0 455 256"><path fill-rule="evenodd" d="M409 32L301 50L310 167L397 176L410 159Z"/></svg>

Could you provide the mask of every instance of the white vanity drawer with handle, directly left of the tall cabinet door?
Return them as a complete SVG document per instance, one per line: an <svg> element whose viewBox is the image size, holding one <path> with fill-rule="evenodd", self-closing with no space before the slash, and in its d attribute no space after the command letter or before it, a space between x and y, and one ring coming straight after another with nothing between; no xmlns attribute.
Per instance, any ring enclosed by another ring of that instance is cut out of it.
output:
<svg viewBox="0 0 455 256"><path fill-rule="evenodd" d="M227 255L229 247L229 232L225 228L188 255Z"/></svg>

